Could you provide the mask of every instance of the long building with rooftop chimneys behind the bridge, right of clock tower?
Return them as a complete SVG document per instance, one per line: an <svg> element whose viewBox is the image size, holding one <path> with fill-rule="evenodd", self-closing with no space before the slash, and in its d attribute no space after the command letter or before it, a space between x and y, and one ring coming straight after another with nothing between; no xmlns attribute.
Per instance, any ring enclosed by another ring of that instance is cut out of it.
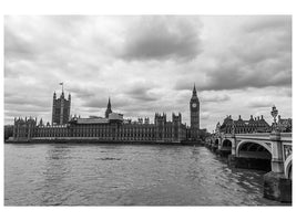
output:
<svg viewBox="0 0 296 221"><path fill-rule="evenodd" d="M226 116L222 125L220 125L220 123L217 124L216 130L224 134L232 134L233 131L234 134L247 134L271 131L272 127L263 118L263 115L255 118L251 115L248 120L242 119L241 115L238 119L235 120L229 115Z"/></svg>

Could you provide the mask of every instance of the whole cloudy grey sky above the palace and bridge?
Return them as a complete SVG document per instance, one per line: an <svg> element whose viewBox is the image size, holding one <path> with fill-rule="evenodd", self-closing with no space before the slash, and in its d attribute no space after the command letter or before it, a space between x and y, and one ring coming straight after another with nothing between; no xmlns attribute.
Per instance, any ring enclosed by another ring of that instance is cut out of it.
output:
<svg viewBox="0 0 296 221"><path fill-rule="evenodd" d="M71 93L71 114L124 118L182 113L195 83L201 127L226 115L271 124L292 117L290 15L6 15L4 124L51 122L52 96Z"/></svg>

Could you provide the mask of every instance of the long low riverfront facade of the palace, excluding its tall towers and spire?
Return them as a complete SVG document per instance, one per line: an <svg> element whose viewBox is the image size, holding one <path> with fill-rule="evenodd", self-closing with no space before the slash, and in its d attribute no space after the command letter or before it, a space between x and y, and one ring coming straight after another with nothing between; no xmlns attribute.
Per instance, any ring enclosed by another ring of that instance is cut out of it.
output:
<svg viewBox="0 0 296 221"><path fill-rule="evenodd" d="M37 120L16 119L13 140L98 140L181 143L186 139L186 126L181 114L155 114L154 124L123 123L111 118L72 118L67 125L37 125Z"/></svg>

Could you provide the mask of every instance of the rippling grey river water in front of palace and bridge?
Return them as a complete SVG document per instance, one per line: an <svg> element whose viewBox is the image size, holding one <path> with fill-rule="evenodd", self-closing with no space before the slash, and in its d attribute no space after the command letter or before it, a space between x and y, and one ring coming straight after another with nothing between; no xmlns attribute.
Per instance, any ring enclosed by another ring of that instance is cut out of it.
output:
<svg viewBox="0 0 296 221"><path fill-rule="evenodd" d="M4 206L282 206L205 147L4 145Z"/></svg>

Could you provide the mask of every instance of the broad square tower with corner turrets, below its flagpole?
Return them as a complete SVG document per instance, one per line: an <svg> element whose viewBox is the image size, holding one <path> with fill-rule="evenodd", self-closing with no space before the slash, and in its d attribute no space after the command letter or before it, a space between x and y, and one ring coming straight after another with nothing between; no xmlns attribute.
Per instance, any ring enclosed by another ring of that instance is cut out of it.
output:
<svg viewBox="0 0 296 221"><path fill-rule="evenodd" d="M52 102L52 125L64 125L68 124L70 119L70 109L71 109L71 94L69 94L68 99L64 98L64 93L60 98L57 98L55 92L53 93Z"/></svg>

